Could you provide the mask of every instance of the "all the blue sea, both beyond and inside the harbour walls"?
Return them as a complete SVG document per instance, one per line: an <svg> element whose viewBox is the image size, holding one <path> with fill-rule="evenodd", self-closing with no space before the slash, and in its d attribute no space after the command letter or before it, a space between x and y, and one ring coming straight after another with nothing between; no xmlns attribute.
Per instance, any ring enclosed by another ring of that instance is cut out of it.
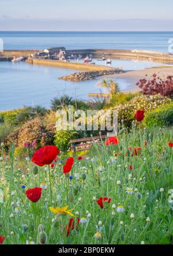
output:
<svg viewBox="0 0 173 256"><path fill-rule="evenodd" d="M0 31L3 49L139 49L168 52L172 32L29 32ZM93 60L97 64L99 60ZM152 61L112 60L112 67L124 70L141 70L160 63ZM58 78L77 72L65 68L30 65L27 63L0 62L0 111L24 105L42 105L50 108L51 100L67 94L77 99L93 100L88 93L99 93L101 78L85 82L61 81ZM116 79L122 92L131 82Z"/></svg>

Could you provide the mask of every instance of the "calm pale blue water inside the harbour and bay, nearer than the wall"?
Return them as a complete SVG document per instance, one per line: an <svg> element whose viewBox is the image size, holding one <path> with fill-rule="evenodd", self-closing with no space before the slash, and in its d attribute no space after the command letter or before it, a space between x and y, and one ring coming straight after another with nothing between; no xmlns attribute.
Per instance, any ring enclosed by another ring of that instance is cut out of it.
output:
<svg viewBox="0 0 173 256"><path fill-rule="evenodd" d="M103 64L103 61L93 61ZM125 70L139 70L153 65L160 64L146 61L112 60L112 67L123 67ZM78 71L27 63L0 62L0 111L20 108L24 105L50 107L51 99L63 94L88 100L88 93L100 93L100 87L97 84L103 78L84 82L58 79L73 72ZM116 81L122 92L130 89L129 81L123 79Z"/></svg>

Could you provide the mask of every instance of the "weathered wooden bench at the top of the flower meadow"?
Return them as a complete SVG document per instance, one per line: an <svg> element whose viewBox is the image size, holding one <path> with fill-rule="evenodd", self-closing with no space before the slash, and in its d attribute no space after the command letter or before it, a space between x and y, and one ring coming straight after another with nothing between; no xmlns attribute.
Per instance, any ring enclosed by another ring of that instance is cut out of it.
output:
<svg viewBox="0 0 173 256"><path fill-rule="evenodd" d="M70 140L72 151L74 153L79 151L87 151L93 145L93 143L87 143L87 142L91 141L91 142L97 142L98 144L101 144L101 140L105 139L106 137L107 135L102 135L102 136L93 136L93 137L86 137L86 138L77 138L76 140Z"/></svg>

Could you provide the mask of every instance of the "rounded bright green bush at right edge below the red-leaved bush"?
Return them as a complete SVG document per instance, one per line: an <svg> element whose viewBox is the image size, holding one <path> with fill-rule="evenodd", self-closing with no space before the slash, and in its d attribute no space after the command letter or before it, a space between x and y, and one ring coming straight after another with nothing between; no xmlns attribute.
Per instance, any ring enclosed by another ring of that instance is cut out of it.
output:
<svg viewBox="0 0 173 256"><path fill-rule="evenodd" d="M149 112L145 117L146 127L172 126L173 125L173 103L157 108Z"/></svg>

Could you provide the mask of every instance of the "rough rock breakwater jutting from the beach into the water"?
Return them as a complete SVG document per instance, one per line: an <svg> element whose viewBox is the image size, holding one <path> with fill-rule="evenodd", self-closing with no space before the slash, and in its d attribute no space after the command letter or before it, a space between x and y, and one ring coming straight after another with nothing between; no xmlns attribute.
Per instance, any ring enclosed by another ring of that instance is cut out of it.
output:
<svg viewBox="0 0 173 256"><path fill-rule="evenodd" d="M77 72L74 74L62 76L59 79L72 81L72 82L80 82L80 81L92 80L97 76L114 75L114 74L121 74L121 73L123 73L123 71L118 69L97 70L97 71L88 71L88 72Z"/></svg>

